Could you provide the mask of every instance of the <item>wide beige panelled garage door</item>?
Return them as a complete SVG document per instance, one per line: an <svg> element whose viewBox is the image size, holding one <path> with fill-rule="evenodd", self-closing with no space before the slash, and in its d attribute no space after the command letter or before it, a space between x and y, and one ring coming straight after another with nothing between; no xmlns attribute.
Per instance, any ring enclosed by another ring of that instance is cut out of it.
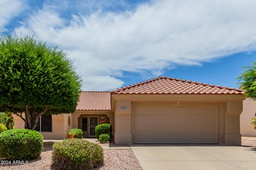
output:
<svg viewBox="0 0 256 170"><path fill-rule="evenodd" d="M218 143L218 107L133 108L134 143Z"/></svg>

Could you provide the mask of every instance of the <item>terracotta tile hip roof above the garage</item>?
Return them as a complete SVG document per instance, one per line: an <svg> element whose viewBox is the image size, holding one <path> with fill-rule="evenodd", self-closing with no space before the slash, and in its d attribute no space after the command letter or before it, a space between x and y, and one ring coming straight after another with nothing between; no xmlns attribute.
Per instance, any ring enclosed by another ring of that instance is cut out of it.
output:
<svg viewBox="0 0 256 170"><path fill-rule="evenodd" d="M242 95L241 89L215 86L195 81L170 77L157 77L111 91L111 94L181 94L181 95Z"/></svg>

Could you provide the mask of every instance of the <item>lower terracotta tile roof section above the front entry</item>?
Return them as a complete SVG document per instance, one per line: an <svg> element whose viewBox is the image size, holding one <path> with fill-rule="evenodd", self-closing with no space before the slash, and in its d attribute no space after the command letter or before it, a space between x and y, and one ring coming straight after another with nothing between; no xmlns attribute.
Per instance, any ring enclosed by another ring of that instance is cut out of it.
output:
<svg viewBox="0 0 256 170"><path fill-rule="evenodd" d="M109 91L83 91L80 94L77 111L110 111Z"/></svg>

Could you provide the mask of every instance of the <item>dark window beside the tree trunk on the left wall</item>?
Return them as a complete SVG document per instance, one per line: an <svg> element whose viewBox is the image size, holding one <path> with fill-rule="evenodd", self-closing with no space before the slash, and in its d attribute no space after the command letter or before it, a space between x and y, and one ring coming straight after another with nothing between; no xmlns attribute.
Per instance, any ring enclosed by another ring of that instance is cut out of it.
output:
<svg viewBox="0 0 256 170"><path fill-rule="evenodd" d="M52 115L41 116L35 130L38 132L52 132Z"/></svg>

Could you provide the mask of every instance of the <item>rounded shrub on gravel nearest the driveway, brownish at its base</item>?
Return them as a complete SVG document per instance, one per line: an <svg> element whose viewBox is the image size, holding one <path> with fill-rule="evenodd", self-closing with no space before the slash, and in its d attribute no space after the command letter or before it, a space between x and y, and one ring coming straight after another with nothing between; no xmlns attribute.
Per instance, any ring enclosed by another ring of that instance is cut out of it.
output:
<svg viewBox="0 0 256 170"><path fill-rule="evenodd" d="M52 169L92 169L103 161L103 149L96 143L66 139L53 144Z"/></svg>

